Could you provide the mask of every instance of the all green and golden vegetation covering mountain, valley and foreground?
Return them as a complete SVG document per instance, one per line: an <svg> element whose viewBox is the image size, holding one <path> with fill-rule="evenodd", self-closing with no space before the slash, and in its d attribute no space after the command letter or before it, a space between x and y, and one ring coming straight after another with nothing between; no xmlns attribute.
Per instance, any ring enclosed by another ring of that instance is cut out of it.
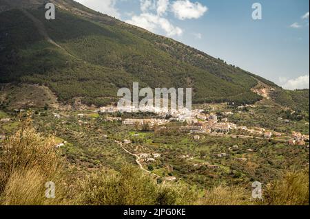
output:
<svg viewBox="0 0 310 219"><path fill-rule="evenodd" d="M0 12L0 119L11 119L0 122L1 205L309 205L309 148L287 143L293 131L309 135L309 89L285 91L71 0L53 1L57 19L47 21L36 2ZM83 106L115 103L132 82L192 87L195 107L219 121L282 137L125 126L107 116L161 117ZM48 181L56 198L44 197ZM263 200L250 199L254 181Z"/></svg>

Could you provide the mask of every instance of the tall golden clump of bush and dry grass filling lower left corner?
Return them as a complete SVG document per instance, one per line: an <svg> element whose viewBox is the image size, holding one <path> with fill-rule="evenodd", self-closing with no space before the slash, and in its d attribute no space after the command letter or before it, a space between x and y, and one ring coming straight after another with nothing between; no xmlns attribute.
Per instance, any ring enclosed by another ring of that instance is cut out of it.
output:
<svg viewBox="0 0 310 219"><path fill-rule="evenodd" d="M2 205L63 204L65 185L61 158L53 138L39 135L26 119L3 143L0 157L0 202ZM45 183L56 185L56 198L45 197Z"/></svg>

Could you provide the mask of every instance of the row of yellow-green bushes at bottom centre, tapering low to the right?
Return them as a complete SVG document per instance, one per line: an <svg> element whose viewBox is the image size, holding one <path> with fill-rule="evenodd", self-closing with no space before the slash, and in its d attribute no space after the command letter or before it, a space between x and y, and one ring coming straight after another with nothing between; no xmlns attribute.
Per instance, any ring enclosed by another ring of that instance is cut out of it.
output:
<svg viewBox="0 0 310 219"><path fill-rule="evenodd" d="M152 176L127 165L119 174L96 172L80 181L78 205L189 205L189 189L158 185Z"/></svg>

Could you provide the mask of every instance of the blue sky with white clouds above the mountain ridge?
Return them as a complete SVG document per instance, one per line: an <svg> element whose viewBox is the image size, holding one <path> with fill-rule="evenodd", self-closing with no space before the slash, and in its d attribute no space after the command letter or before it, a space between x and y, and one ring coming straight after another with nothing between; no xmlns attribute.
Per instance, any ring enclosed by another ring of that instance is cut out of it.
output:
<svg viewBox="0 0 310 219"><path fill-rule="evenodd" d="M285 89L309 88L309 0L75 0ZM252 19L253 3L262 19Z"/></svg>

